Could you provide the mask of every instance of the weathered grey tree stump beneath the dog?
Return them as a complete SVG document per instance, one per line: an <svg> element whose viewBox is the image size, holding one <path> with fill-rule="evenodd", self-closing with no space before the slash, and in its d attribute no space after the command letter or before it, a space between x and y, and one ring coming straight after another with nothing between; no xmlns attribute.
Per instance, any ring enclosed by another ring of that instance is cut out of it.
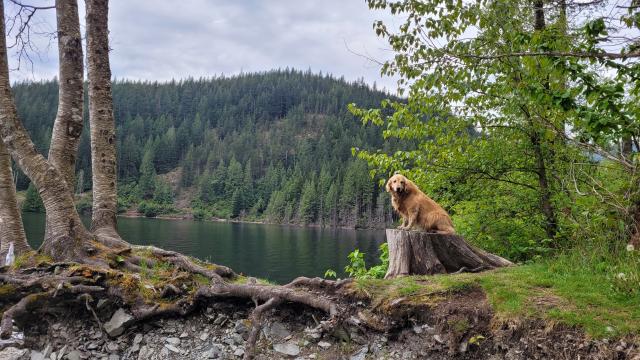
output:
<svg viewBox="0 0 640 360"><path fill-rule="evenodd" d="M512 262L469 245L459 235L387 229L389 270L385 279L405 275L479 272Z"/></svg>

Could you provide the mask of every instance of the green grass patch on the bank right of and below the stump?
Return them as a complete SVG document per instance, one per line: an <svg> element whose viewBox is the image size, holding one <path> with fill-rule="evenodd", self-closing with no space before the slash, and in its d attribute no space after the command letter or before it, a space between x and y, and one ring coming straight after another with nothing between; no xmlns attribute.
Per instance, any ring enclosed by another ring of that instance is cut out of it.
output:
<svg viewBox="0 0 640 360"><path fill-rule="evenodd" d="M626 274L632 273L628 264L633 261L640 264L638 259L626 259ZM640 333L640 296L626 293L617 284L622 275L616 271L623 265L612 270L601 263L570 254L479 274L358 280L355 287L374 305L400 297L407 297L406 303L434 304L448 294L480 287L498 320L542 318L580 327L596 338Z"/></svg>

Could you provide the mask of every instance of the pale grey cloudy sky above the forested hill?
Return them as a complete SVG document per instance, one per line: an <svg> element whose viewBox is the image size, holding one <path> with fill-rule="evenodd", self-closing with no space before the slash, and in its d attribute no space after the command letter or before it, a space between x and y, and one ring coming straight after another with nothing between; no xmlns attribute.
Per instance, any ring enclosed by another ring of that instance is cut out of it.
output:
<svg viewBox="0 0 640 360"><path fill-rule="evenodd" d="M31 0L51 5L53 1ZM171 80L292 67L348 80L364 78L395 90L380 76L379 61L392 56L372 29L364 0L112 0L111 65L117 78ZM81 22L84 3L80 1ZM7 6L7 15L15 8ZM53 10L38 13L36 29L53 31ZM83 26L84 30L84 26ZM10 42L11 39L9 39ZM22 64L13 80L48 79L57 73L55 40L37 42L33 68ZM364 55L364 56L362 56ZM13 60L12 67L16 67Z"/></svg>

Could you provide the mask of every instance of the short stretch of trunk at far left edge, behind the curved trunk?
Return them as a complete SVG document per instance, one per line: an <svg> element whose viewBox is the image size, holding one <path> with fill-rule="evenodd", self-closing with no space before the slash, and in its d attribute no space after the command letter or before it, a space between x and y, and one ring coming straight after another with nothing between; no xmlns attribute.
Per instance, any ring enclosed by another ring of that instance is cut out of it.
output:
<svg viewBox="0 0 640 360"><path fill-rule="evenodd" d="M27 243L27 236L22 226L22 216L16 201L11 157L0 141L0 265L5 264L11 243L13 243L15 255L31 250Z"/></svg>

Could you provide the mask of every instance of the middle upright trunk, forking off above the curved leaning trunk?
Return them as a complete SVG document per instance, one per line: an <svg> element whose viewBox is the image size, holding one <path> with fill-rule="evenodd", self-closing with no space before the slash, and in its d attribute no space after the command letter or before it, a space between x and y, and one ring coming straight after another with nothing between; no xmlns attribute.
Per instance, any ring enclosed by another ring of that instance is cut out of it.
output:
<svg viewBox="0 0 640 360"><path fill-rule="evenodd" d="M78 143L82 135L83 81L82 40L76 0L57 0L58 55L60 61L58 113L51 134L49 162L64 177L69 191L75 189Z"/></svg>

